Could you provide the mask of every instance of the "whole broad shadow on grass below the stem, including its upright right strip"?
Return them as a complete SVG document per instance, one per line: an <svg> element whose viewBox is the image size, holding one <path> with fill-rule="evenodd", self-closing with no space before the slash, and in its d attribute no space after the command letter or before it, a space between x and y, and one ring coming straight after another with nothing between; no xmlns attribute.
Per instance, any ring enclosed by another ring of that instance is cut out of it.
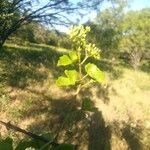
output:
<svg viewBox="0 0 150 150"><path fill-rule="evenodd" d="M110 150L110 128L106 127L101 112L80 109L74 96L52 99L39 93L41 99L24 111L24 118L35 118L28 126L34 133L47 132L58 142L72 143L80 149Z"/></svg>

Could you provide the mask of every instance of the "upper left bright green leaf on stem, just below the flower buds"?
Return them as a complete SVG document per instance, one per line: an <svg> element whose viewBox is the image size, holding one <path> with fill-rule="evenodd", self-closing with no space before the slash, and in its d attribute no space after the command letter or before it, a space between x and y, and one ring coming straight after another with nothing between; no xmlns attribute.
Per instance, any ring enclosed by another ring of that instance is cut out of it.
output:
<svg viewBox="0 0 150 150"><path fill-rule="evenodd" d="M67 55L63 55L59 58L57 66L67 66L72 64L72 60Z"/></svg>

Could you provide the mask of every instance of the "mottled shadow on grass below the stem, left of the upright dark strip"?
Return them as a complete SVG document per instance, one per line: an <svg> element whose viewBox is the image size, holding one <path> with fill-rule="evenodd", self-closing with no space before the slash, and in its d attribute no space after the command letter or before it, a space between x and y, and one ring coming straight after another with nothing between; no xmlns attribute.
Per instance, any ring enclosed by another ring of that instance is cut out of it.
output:
<svg viewBox="0 0 150 150"><path fill-rule="evenodd" d="M37 115L38 112L39 116L44 115L44 119L39 117L29 126L29 130L39 133L49 132L61 143L87 144L88 120L84 112L77 109L77 105L78 103L73 99L51 99L49 106L36 104L25 112L25 116L28 118L35 113Z"/></svg>

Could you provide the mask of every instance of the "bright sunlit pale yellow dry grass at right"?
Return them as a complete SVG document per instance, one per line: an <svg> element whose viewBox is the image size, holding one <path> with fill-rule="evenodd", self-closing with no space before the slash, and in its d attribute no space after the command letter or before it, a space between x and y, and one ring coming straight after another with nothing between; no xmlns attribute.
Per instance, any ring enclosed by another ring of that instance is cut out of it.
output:
<svg viewBox="0 0 150 150"><path fill-rule="evenodd" d="M122 67L119 69L123 72L121 77L117 80L109 80L110 102L105 104L96 100L97 107L103 112L106 122L114 128L115 132L128 130L128 135L123 135L126 136L124 138L127 142L139 142L143 145L143 149L149 149L150 74ZM115 138L115 135L113 137ZM135 137L137 137L136 142ZM127 143L125 144L121 139L122 137L120 140L115 138L118 140L117 143L122 142L120 147L114 145L114 150L127 149L125 148ZM135 145L131 144L131 148Z"/></svg>

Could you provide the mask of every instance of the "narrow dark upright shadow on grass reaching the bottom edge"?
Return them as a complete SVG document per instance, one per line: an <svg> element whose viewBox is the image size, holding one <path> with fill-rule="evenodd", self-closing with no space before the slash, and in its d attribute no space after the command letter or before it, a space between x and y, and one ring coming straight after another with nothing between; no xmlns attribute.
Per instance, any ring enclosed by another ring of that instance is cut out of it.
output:
<svg viewBox="0 0 150 150"><path fill-rule="evenodd" d="M111 130L99 111L91 117L88 150L111 150Z"/></svg>

